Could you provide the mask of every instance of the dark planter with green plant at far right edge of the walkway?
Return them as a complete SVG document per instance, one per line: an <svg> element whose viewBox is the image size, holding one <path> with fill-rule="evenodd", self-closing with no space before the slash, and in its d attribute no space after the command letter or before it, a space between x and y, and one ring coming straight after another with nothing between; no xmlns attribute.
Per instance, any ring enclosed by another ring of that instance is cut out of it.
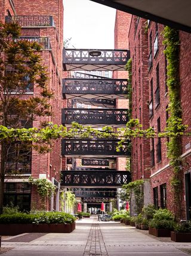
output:
<svg viewBox="0 0 191 256"><path fill-rule="evenodd" d="M174 242L191 242L191 222L175 224L174 231L171 231L171 240Z"/></svg>

